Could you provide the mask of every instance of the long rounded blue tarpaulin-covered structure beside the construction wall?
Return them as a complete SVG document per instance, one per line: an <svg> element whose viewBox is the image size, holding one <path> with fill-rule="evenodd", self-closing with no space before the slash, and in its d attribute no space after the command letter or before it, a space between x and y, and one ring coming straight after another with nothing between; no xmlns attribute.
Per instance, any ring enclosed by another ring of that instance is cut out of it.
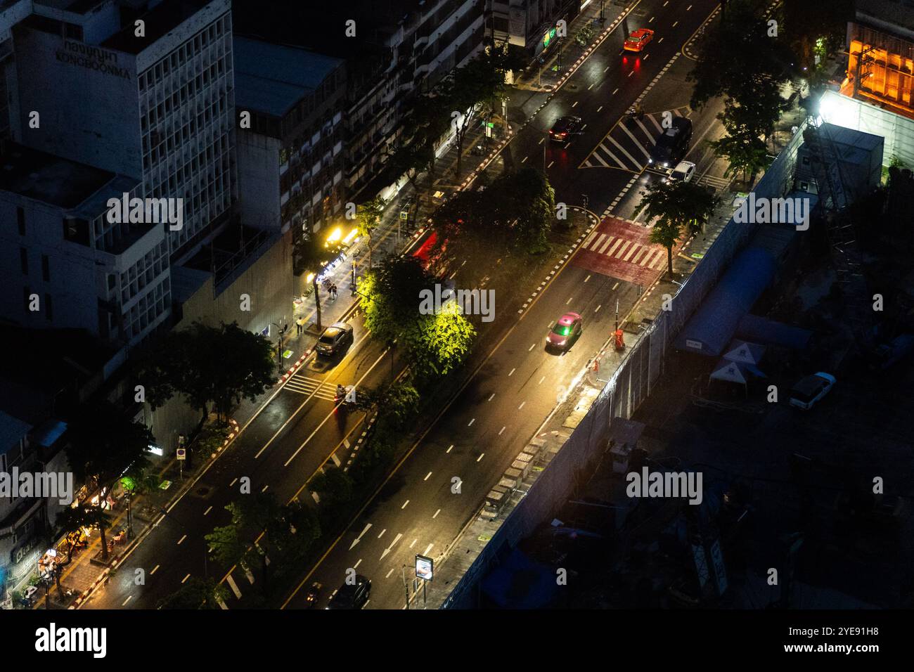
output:
<svg viewBox="0 0 914 672"><path fill-rule="evenodd" d="M775 261L768 251L759 247L741 251L679 333L675 347L719 357L736 333L739 320L771 283L774 270Z"/></svg>

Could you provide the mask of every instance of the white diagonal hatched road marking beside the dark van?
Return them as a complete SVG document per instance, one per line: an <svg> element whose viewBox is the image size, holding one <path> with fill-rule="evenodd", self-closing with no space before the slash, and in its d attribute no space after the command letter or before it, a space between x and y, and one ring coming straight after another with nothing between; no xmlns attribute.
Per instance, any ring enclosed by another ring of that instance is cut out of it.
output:
<svg viewBox="0 0 914 672"><path fill-rule="evenodd" d="M580 167L619 168L640 173L647 165L657 136L663 133L664 112L644 114L641 119L623 117L606 134ZM670 110L674 116L687 116L688 107Z"/></svg>

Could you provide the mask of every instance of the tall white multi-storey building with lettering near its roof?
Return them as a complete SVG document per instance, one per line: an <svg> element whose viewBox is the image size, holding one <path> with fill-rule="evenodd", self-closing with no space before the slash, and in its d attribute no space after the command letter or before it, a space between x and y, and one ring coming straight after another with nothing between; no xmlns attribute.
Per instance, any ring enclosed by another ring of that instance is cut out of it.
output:
<svg viewBox="0 0 914 672"><path fill-rule="evenodd" d="M14 137L182 198L166 239L187 256L235 197L231 45L229 0L34 0L13 29Z"/></svg>

